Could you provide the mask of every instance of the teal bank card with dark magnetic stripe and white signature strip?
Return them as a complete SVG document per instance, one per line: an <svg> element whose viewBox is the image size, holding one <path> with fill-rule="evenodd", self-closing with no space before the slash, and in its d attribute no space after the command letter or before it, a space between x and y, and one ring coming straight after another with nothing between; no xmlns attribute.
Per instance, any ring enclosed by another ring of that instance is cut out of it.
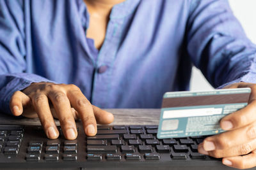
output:
<svg viewBox="0 0 256 170"><path fill-rule="evenodd" d="M220 120L248 104L250 88L166 92L157 138L183 138L223 132Z"/></svg>

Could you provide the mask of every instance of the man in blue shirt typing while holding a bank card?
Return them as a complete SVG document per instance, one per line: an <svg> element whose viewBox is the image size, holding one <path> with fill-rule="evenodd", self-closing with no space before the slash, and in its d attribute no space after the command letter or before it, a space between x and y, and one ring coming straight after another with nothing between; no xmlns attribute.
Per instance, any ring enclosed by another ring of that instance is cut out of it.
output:
<svg viewBox="0 0 256 170"><path fill-rule="evenodd" d="M67 139L81 118L93 136L96 122L113 121L100 108L159 108L164 92L188 90L193 63L216 88L252 89L250 104L221 120L227 132L198 151L256 166L256 46L227 1L0 2L2 112L39 117L49 138L53 117Z"/></svg>

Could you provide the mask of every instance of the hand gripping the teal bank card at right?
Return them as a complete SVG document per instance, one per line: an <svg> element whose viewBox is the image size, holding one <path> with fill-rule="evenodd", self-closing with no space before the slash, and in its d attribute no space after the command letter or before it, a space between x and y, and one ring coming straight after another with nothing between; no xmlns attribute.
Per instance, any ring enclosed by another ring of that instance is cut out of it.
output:
<svg viewBox="0 0 256 170"><path fill-rule="evenodd" d="M221 134L205 138L198 145L198 152L216 158L223 158L223 164L246 169L256 166L256 84L235 83L226 88L250 87L248 105L220 121Z"/></svg>

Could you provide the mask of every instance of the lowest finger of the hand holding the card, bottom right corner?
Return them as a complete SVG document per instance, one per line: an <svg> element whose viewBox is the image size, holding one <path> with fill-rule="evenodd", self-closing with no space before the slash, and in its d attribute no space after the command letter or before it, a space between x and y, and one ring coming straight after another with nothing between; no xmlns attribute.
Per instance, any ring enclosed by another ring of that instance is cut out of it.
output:
<svg viewBox="0 0 256 170"><path fill-rule="evenodd" d="M243 156L227 157L222 159L222 163L226 166L235 167L238 169L247 169L256 166L256 153L255 150Z"/></svg>

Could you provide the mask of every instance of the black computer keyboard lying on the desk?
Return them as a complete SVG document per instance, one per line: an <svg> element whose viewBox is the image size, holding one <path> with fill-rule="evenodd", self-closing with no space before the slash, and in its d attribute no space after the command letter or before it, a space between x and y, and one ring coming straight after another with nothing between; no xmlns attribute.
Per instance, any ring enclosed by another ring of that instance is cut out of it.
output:
<svg viewBox="0 0 256 170"><path fill-rule="evenodd" d="M157 125L99 125L96 136L47 139L41 126L0 125L0 167L229 169L197 152L204 136L157 139Z"/></svg>

